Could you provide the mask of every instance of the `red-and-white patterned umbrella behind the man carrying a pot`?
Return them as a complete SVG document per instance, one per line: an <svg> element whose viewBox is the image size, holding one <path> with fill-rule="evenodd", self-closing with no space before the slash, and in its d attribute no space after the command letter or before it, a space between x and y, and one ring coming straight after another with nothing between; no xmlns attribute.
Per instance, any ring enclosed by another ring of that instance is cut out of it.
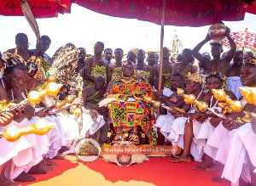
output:
<svg viewBox="0 0 256 186"><path fill-rule="evenodd" d="M232 32L230 37L236 43L237 48L250 48L256 51L256 34L251 33L246 29L246 31ZM224 39L223 45L230 48L230 42L227 39Z"/></svg>

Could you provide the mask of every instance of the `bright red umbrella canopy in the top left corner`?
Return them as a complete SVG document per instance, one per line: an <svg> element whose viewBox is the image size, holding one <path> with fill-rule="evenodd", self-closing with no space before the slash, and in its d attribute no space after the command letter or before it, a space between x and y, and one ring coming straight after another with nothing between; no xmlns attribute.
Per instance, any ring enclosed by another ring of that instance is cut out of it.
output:
<svg viewBox="0 0 256 186"><path fill-rule="evenodd" d="M36 18L57 17L59 13L70 13L71 0L28 0ZM22 16L20 0L1 0L0 15Z"/></svg>

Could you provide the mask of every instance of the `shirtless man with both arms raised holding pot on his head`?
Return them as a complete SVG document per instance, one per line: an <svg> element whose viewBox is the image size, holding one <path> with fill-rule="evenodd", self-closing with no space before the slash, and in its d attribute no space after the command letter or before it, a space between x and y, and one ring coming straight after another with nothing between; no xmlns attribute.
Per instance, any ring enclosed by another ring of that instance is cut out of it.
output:
<svg viewBox="0 0 256 186"><path fill-rule="evenodd" d="M200 42L196 47L192 50L192 53L195 55L195 58L201 62L201 67L206 71L206 74L211 73L212 71L218 71L222 74L226 74L228 67L230 65L231 59L234 57L236 52L236 43L230 37L230 29L227 28L225 32L226 37L230 42L230 51L228 52L227 56L224 59L220 58L220 54L223 52L223 46L221 43L211 43L211 53L213 59L204 58L200 53L199 50L201 47L210 41L210 37L207 34L207 37Z"/></svg>

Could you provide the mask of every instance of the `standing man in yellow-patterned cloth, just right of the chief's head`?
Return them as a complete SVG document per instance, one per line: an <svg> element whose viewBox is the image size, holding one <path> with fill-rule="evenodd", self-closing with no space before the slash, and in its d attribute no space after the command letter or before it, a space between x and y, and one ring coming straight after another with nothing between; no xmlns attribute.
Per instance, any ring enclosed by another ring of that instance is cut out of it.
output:
<svg viewBox="0 0 256 186"><path fill-rule="evenodd" d="M134 70L137 74L140 74L145 82L150 82L153 85L153 69L144 63L145 51L140 49L137 51L137 65L134 65Z"/></svg>

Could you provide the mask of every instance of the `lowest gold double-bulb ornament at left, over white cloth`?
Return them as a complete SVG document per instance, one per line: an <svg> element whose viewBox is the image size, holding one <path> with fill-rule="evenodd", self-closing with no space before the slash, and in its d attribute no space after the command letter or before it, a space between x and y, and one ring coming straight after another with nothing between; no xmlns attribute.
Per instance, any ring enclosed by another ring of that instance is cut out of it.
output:
<svg viewBox="0 0 256 186"><path fill-rule="evenodd" d="M55 123L39 119L32 126L28 127L16 127L16 126L8 126L5 127L3 131L3 138L5 138L9 142L17 141L21 136L34 133L37 135L44 135L53 127L55 127Z"/></svg>

